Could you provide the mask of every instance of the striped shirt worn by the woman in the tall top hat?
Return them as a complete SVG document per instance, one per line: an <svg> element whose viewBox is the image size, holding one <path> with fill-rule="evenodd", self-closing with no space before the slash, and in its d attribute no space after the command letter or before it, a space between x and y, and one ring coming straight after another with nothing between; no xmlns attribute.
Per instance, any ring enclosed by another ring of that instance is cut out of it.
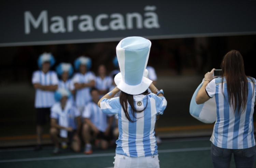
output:
<svg viewBox="0 0 256 168"><path fill-rule="evenodd" d="M157 154L155 138L156 114L163 114L167 101L165 97L158 97L154 93L148 95L134 95L134 107L136 110L143 110L141 113L134 113L132 116L130 105L128 111L131 120L125 117L125 112L120 105L119 97L103 99L100 107L103 113L118 115L119 137L116 141L116 153L129 157L152 156ZM139 106L140 105L140 106Z"/></svg>

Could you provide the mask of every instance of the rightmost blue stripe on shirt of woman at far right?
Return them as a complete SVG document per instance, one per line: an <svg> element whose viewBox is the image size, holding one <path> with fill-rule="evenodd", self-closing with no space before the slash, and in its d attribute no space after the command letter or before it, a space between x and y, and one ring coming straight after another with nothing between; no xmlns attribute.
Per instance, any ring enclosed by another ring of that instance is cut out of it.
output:
<svg viewBox="0 0 256 168"><path fill-rule="evenodd" d="M248 86L248 96L247 96L247 105L246 105L246 114L245 114L245 122L244 122L244 133L243 133L243 148L248 148L248 131L249 131L249 123L250 123L250 114L252 110L252 86L249 82L247 82Z"/></svg>

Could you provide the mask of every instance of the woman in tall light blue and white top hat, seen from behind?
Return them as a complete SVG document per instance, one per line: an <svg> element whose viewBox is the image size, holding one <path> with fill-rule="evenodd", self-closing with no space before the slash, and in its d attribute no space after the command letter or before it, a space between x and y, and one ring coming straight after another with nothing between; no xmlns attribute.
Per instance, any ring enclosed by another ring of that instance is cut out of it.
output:
<svg viewBox="0 0 256 168"><path fill-rule="evenodd" d="M118 115L115 168L159 168L154 127L156 115L163 113L167 101L163 91L147 78L150 47L151 42L142 37L127 37L118 43L121 72L115 76L117 87L98 102L103 113ZM148 93L148 88L152 93ZM119 91L120 97L113 98Z"/></svg>

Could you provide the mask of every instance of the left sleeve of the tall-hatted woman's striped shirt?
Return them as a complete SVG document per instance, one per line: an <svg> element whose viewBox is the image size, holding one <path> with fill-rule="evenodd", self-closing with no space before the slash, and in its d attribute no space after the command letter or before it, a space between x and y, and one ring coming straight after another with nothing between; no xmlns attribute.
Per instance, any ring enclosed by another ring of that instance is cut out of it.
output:
<svg viewBox="0 0 256 168"><path fill-rule="evenodd" d="M101 111L105 114L116 114L120 108L119 97L114 97L111 99L104 98L100 102Z"/></svg>

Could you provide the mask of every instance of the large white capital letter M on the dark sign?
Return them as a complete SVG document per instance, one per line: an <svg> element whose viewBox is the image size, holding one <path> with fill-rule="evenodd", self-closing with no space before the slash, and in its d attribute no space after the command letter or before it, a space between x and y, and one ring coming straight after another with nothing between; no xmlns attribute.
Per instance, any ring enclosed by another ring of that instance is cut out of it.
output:
<svg viewBox="0 0 256 168"><path fill-rule="evenodd" d="M48 16L47 11L42 11L40 15L38 16L37 20L33 17L30 11L26 11L24 13L24 19L25 19L25 34L30 34L30 24L31 22L32 26L37 29L42 22L43 27L43 33L48 33Z"/></svg>

